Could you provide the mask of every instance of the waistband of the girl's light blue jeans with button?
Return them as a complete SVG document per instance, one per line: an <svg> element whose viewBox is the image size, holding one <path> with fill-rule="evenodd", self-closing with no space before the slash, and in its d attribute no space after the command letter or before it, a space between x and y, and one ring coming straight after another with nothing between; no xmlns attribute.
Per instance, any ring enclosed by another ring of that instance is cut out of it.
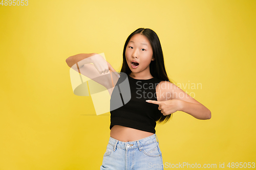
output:
<svg viewBox="0 0 256 170"><path fill-rule="evenodd" d="M134 149L134 148L139 148L139 150L141 151L144 145L153 143L153 142L158 142L157 139L157 135L153 134L151 136L139 139L139 140L135 140L135 141L120 141L117 139L114 139L113 137L110 136L110 140L109 140L109 144L114 146L114 151L116 150L116 148L120 148L120 149L125 149L125 150L129 150L129 149Z"/></svg>

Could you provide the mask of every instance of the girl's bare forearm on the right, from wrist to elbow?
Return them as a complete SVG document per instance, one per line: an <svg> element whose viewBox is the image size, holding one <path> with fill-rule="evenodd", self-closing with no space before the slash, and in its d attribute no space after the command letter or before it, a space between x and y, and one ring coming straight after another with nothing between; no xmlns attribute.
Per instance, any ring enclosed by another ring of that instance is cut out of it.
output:
<svg viewBox="0 0 256 170"><path fill-rule="evenodd" d="M211 112L204 105L180 100L180 111L186 112L198 119L210 119Z"/></svg>

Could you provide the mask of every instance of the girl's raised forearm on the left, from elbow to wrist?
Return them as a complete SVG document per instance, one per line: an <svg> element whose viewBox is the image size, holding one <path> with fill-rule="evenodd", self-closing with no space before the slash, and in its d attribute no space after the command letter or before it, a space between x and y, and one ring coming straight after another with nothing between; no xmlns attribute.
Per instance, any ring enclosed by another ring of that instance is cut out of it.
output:
<svg viewBox="0 0 256 170"><path fill-rule="evenodd" d="M96 55L96 53L90 53L90 54L77 54L74 56L70 56L69 58L66 59L66 63L68 64L69 67L72 68L81 68L84 64L91 63L91 58L92 56Z"/></svg>

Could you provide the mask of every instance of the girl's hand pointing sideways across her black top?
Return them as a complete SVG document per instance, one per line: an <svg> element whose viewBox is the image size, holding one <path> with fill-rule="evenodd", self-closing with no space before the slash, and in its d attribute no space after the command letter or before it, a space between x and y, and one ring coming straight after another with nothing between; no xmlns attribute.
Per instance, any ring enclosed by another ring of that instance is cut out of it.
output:
<svg viewBox="0 0 256 170"><path fill-rule="evenodd" d="M146 102L159 105L158 110L161 110L161 113L163 113L164 116L179 111L182 107L182 102L178 99L172 99L167 101L146 100Z"/></svg>

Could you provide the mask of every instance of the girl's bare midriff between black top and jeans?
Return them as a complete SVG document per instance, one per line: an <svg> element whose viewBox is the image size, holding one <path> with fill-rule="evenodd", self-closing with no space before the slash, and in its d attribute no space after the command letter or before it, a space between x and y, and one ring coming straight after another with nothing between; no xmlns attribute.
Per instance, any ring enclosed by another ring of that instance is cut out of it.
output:
<svg viewBox="0 0 256 170"><path fill-rule="evenodd" d="M115 125L111 128L110 136L123 142L135 141L153 135L152 132L145 132L138 129Z"/></svg>

